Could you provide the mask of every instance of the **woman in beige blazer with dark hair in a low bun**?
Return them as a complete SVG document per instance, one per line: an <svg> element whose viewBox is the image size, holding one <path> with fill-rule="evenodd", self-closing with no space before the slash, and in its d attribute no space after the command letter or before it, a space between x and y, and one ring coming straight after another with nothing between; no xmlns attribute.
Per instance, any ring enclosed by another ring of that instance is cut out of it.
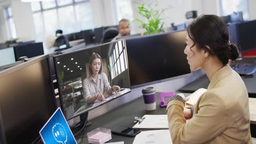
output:
<svg viewBox="0 0 256 144"><path fill-rule="evenodd" d="M238 51L226 24L216 15L198 17L187 28L186 45L190 69L202 68L211 82L192 109L184 109L184 96L170 98L166 112L173 143L252 143L248 93L228 64Z"/></svg>

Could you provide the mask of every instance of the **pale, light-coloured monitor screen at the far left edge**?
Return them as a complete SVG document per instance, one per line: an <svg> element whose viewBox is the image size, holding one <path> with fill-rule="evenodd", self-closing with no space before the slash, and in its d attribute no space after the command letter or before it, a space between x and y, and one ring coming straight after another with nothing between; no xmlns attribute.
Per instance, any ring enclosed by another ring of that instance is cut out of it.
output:
<svg viewBox="0 0 256 144"><path fill-rule="evenodd" d="M14 63L15 55L13 47L5 48L0 50L0 66Z"/></svg>

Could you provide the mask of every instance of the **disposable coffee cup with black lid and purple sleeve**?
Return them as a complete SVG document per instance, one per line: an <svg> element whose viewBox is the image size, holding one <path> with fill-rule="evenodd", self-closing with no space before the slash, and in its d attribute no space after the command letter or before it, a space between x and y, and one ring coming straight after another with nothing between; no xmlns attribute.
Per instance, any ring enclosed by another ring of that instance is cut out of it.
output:
<svg viewBox="0 0 256 144"><path fill-rule="evenodd" d="M155 88L154 87L143 88L142 93L143 93L143 98L144 98L145 109L147 111L155 110L156 109Z"/></svg>

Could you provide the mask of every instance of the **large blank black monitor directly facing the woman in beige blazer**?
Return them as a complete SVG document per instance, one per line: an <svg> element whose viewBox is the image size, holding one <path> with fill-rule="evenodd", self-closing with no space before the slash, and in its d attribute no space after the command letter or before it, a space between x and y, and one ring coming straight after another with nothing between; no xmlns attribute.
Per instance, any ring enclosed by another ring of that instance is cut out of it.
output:
<svg viewBox="0 0 256 144"><path fill-rule="evenodd" d="M186 34L174 31L126 39L132 88L189 74Z"/></svg>

